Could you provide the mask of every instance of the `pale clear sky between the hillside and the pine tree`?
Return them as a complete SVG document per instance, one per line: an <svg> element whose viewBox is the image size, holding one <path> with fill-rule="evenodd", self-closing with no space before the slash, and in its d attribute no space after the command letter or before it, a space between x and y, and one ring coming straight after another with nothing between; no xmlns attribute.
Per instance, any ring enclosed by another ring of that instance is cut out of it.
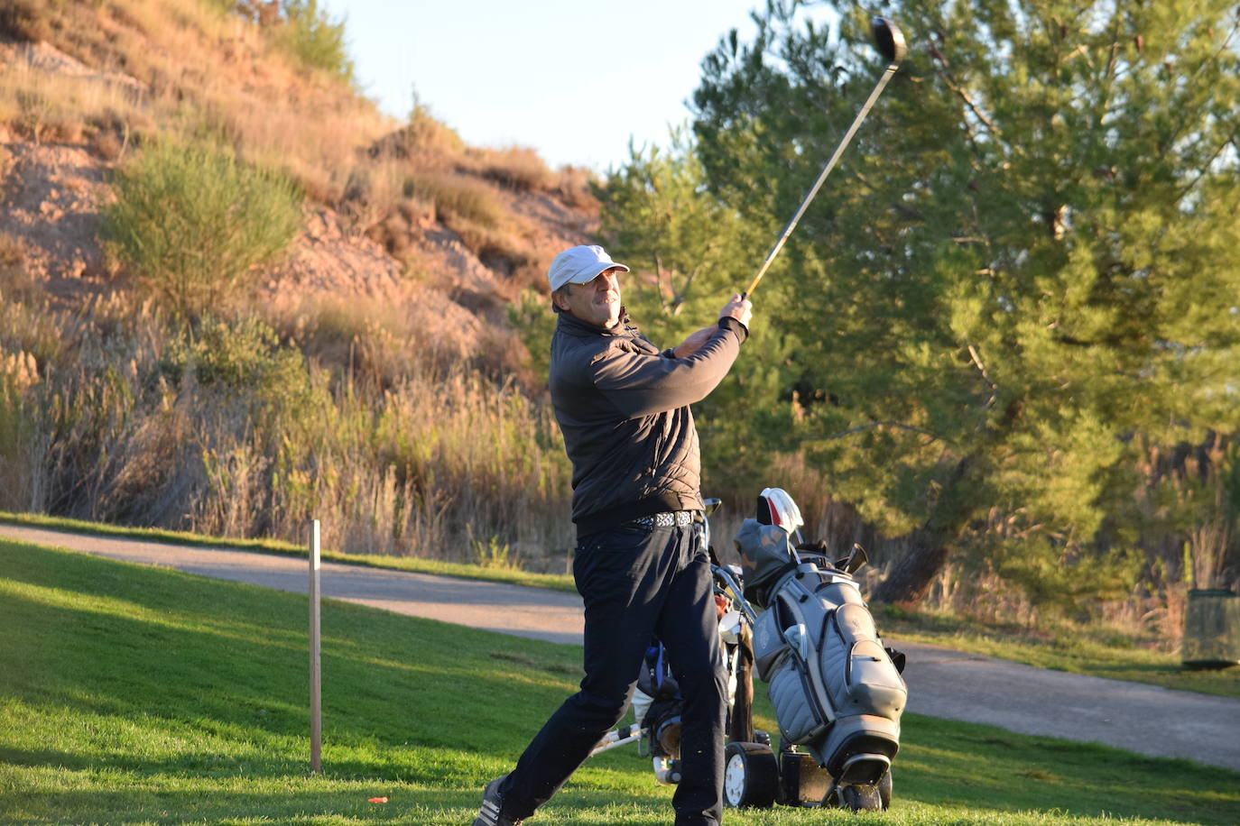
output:
<svg viewBox="0 0 1240 826"><path fill-rule="evenodd" d="M362 90L405 118L414 92L470 146L526 146L598 172L630 137L663 146L702 58L730 28L753 38L765 0L321 0L345 19Z"/></svg>

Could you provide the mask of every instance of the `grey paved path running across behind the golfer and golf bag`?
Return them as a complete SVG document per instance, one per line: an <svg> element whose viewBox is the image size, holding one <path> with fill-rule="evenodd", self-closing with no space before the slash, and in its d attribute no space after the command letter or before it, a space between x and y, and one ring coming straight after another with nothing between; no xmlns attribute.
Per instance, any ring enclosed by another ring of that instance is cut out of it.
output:
<svg viewBox="0 0 1240 826"><path fill-rule="evenodd" d="M0 524L0 537L306 593L305 560ZM582 601L544 588L325 562L322 593L363 606L552 643L582 643ZM1048 671L889 640L909 655L909 711L1027 734L1099 742L1240 770L1240 700Z"/></svg>

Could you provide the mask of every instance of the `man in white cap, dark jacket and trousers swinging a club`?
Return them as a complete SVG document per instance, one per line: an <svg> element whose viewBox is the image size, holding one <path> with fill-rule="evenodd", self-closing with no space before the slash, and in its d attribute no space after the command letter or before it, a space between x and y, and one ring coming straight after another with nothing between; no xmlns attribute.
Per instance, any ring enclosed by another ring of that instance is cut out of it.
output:
<svg viewBox="0 0 1240 826"><path fill-rule="evenodd" d="M621 272L601 246L551 265L559 316L551 394L573 463L573 577L585 604L585 677L517 760L492 780L474 826L520 824L547 802L625 713L658 637L684 696L678 826L713 826L723 804L727 676L702 520L698 437L688 405L723 380L749 334L734 295L718 324L660 352L629 324Z"/></svg>

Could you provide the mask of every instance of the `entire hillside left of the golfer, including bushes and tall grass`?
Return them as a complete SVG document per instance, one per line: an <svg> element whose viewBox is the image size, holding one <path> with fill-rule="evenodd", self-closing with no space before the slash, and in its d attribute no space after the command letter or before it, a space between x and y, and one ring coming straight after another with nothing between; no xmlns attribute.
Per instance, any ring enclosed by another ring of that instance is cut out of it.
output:
<svg viewBox="0 0 1240 826"><path fill-rule="evenodd" d="M510 312L589 175L383 115L317 9L0 9L0 509L562 571Z"/></svg>

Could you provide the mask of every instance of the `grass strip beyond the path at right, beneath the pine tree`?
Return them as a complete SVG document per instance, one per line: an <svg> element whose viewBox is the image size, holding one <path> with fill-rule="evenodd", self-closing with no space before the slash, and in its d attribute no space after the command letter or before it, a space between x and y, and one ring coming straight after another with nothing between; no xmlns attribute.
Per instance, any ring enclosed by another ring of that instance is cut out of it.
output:
<svg viewBox="0 0 1240 826"><path fill-rule="evenodd" d="M1033 634L1022 627L981 628L960 618L903 612L880 613L878 620L884 634L898 639L1056 671L1240 697L1240 666L1216 671L1185 669L1178 654L1143 648L1126 635L1097 628L1048 624Z"/></svg>

